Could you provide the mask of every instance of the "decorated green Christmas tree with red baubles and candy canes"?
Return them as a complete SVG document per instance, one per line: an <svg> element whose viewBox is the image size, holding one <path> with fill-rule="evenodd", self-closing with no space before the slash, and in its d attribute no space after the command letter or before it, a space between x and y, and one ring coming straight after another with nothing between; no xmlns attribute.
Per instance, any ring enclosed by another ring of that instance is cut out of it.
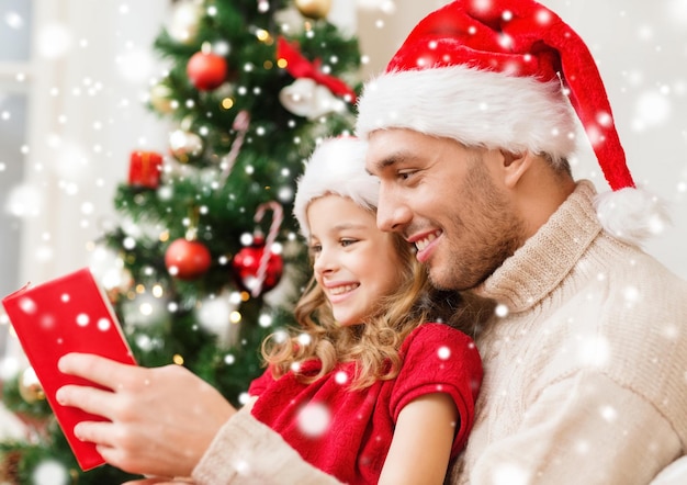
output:
<svg viewBox="0 0 687 485"><path fill-rule="evenodd" d="M291 216L303 161L353 124L358 42L327 20L329 4L173 4L154 46L168 70L148 100L172 126L168 146L132 148L117 222L93 241L91 270L137 362L183 364L237 406L308 277ZM78 469L31 369L2 391L31 437L0 443L0 483L129 477Z"/></svg>

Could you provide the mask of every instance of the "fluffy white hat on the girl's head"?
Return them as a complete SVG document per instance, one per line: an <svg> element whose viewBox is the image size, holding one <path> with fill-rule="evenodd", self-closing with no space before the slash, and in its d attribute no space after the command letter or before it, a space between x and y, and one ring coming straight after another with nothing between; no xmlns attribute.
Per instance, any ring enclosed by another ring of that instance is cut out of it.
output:
<svg viewBox="0 0 687 485"><path fill-rule="evenodd" d="M322 142L305 163L297 181L293 214L301 233L309 238L307 206L317 198L337 194L365 208L376 208L379 180L365 171L368 144L352 136Z"/></svg>

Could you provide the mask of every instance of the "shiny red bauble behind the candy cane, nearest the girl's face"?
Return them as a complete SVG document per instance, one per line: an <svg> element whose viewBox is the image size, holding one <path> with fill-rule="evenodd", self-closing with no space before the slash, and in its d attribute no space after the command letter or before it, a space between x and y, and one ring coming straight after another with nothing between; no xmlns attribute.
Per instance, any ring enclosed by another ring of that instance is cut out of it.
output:
<svg viewBox="0 0 687 485"><path fill-rule="evenodd" d="M264 293L277 286L284 269L281 256L274 252L270 252L267 261L263 261L264 250L262 240L256 239L252 246L238 251L232 262L238 284L254 296L257 296L256 293ZM263 271L260 271L261 262ZM259 291L256 292L256 289Z"/></svg>

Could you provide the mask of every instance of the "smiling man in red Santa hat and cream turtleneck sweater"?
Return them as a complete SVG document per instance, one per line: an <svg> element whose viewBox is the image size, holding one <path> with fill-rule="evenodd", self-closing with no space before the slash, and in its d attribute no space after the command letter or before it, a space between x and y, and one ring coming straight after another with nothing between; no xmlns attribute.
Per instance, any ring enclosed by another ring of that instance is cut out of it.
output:
<svg viewBox="0 0 687 485"><path fill-rule="evenodd" d="M575 116L610 193L571 177ZM687 284L637 244L663 217L634 188L598 71L565 23L531 0L430 13L365 87L358 132L381 180L380 227L416 245L438 286L497 303L451 483L646 484L685 453ZM232 413L202 414L212 428ZM335 483L248 410L193 478Z"/></svg>

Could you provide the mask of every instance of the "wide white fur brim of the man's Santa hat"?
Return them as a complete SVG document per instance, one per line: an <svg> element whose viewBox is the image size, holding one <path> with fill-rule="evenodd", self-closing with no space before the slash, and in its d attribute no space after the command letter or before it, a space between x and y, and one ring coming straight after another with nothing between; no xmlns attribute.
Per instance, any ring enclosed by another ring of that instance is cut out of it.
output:
<svg viewBox="0 0 687 485"><path fill-rule="evenodd" d="M357 135L408 128L466 146L565 158L576 122L560 82L504 76L463 65L385 72L358 102Z"/></svg>

